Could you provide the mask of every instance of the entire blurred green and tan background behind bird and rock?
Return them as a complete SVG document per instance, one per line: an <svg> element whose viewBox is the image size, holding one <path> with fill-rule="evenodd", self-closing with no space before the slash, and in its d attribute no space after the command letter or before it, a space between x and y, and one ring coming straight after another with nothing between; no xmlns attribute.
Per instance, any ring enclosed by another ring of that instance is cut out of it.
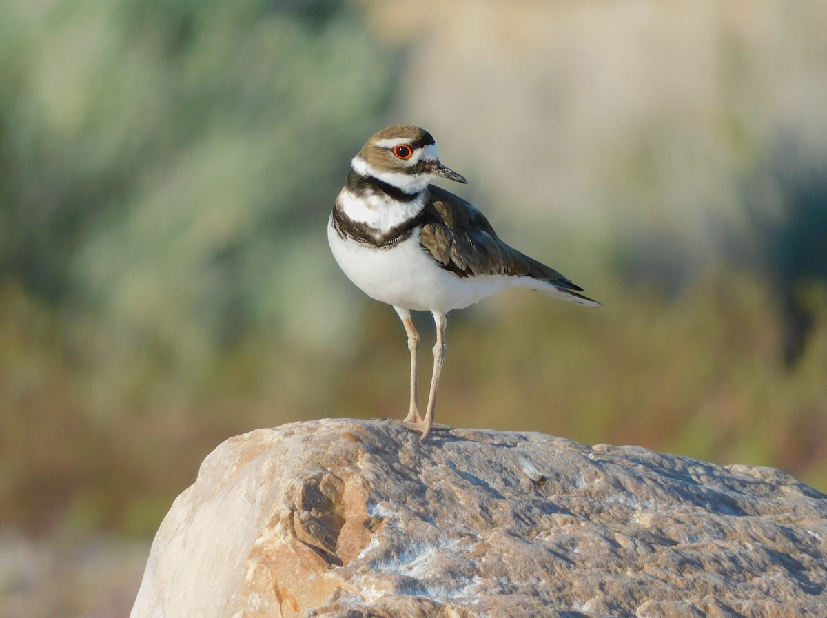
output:
<svg viewBox="0 0 827 618"><path fill-rule="evenodd" d="M232 435L404 416L404 329L325 231L397 122L605 305L457 311L437 421L825 490L825 23L782 0L4 3L0 616L126 616Z"/></svg>

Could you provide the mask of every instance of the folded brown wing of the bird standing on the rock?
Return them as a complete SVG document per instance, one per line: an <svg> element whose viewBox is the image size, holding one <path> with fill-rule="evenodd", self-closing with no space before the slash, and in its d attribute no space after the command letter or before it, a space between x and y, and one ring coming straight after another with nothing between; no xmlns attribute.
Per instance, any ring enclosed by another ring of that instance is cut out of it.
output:
<svg viewBox="0 0 827 618"><path fill-rule="evenodd" d="M461 197L434 185L429 189L422 244L445 269L460 277L528 275L562 289L582 291L555 269L506 245L485 216Z"/></svg>

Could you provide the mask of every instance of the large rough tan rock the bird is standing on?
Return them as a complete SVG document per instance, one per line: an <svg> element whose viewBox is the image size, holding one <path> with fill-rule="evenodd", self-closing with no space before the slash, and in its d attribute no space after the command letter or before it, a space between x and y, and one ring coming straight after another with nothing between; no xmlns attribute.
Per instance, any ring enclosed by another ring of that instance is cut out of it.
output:
<svg viewBox="0 0 827 618"><path fill-rule="evenodd" d="M827 496L538 433L323 420L227 440L133 618L827 616Z"/></svg>

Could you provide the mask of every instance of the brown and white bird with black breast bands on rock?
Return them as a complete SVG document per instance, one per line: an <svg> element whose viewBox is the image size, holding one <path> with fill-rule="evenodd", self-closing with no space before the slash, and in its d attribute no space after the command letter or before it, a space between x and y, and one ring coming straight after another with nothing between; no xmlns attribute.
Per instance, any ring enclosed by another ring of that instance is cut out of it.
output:
<svg viewBox="0 0 827 618"><path fill-rule="evenodd" d="M445 361L447 314L508 288L528 288L600 307L557 270L506 245L471 203L432 184L467 183L443 165L433 136L389 126L351 159L327 221L333 257L352 283L394 307L408 335L410 404L403 425L428 438ZM418 406L418 331L411 311L431 311L437 330L428 404Z"/></svg>

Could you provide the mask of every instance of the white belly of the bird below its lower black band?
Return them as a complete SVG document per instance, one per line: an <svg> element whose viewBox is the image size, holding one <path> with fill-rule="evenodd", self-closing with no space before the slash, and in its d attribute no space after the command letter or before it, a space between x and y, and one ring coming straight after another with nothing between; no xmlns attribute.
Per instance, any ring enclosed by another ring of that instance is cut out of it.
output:
<svg viewBox="0 0 827 618"><path fill-rule="evenodd" d="M505 275L457 277L419 244L418 232L390 248L376 249L342 239L328 221L327 241L347 278L371 298L395 307L447 313L519 285L519 278Z"/></svg>

